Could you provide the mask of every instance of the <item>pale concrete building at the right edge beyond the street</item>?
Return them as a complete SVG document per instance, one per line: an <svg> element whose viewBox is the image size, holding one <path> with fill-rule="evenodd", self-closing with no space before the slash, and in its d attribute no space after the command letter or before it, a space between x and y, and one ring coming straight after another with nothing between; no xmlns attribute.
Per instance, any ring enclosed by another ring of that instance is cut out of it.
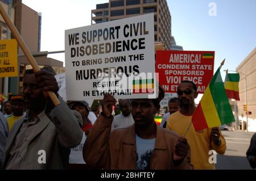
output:
<svg viewBox="0 0 256 181"><path fill-rule="evenodd" d="M238 114L246 116L245 111L243 111L243 104L246 103L247 92L247 110L252 112L248 117L256 119L256 48L238 65L236 71L240 73L240 101L237 102ZM244 74L246 74L246 77Z"/></svg>

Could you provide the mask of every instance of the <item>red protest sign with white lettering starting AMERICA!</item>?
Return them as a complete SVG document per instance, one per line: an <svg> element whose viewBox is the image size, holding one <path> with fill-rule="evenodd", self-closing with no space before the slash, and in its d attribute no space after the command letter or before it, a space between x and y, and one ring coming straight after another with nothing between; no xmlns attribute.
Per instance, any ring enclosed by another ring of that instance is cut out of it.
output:
<svg viewBox="0 0 256 181"><path fill-rule="evenodd" d="M213 76L213 51L157 50L156 73L165 92L176 92L181 81L192 81L204 93Z"/></svg>

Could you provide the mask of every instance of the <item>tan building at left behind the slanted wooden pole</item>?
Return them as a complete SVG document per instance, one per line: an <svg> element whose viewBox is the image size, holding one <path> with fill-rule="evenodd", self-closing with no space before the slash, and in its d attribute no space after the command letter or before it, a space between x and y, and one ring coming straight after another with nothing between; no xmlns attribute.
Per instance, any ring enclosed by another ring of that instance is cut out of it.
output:
<svg viewBox="0 0 256 181"><path fill-rule="evenodd" d="M11 21L15 24L15 27L19 31L23 40L25 41L30 52L40 52L41 44L41 20L42 15L40 12L36 12L30 7L24 5L22 0L0 0L0 3L4 9L8 10L8 4L11 4ZM3 20L0 15L0 39L7 39L7 25L5 20ZM13 36L11 36L14 39ZM22 55L22 49L18 46L18 54ZM34 56L40 68L42 66L52 66L54 70L60 70L56 73L61 73L64 71L63 62L57 61L53 58L47 58L47 55L44 56ZM8 94L22 94L22 83L23 75L26 69L30 68L29 62L26 57L18 56L18 66L19 66L19 77L10 77L9 78L9 89ZM3 92L3 78L0 78L0 93Z"/></svg>

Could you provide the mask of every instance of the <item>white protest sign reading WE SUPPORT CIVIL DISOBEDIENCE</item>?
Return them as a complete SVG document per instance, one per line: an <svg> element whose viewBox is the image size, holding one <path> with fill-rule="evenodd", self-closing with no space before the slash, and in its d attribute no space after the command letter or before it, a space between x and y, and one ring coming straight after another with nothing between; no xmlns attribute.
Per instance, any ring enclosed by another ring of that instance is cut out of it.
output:
<svg viewBox="0 0 256 181"><path fill-rule="evenodd" d="M68 100L156 98L154 14L65 31Z"/></svg>

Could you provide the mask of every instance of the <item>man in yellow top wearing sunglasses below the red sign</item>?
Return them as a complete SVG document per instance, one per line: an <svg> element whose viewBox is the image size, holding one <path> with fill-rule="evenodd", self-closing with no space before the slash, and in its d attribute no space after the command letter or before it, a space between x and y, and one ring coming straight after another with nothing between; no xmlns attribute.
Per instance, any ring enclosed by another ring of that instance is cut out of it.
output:
<svg viewBox="0 0 256 181"><path fill-rule="evenodd" d="M196 110L197 87L191 81L183 81L177 87L177 94L180 100L180 110L170 115L167 129L183 136L191 125L192 115ZM220 128L215 127L196 132L191 125L185 137L191 147L191 163L195 169L214 169L216 160L211 159L214 157L211 157L213 151L210 150L215 150L218 154L224 154L226 150L226 141Z"/></svg>

